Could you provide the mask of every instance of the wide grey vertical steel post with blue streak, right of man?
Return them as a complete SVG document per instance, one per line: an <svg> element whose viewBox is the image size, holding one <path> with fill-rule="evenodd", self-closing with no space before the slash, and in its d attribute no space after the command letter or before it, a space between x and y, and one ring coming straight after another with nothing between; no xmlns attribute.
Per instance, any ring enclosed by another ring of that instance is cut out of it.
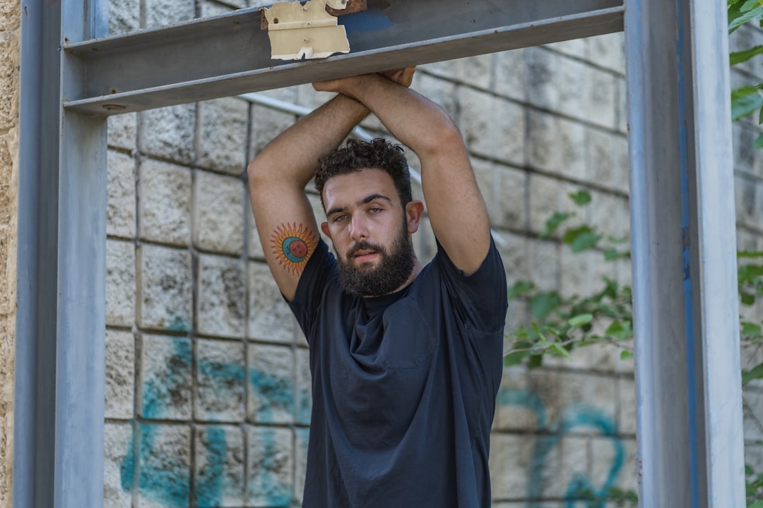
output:
<svg viewBox="0 0 763 508"><path fill-rule="evenodd" d="M639 500L745 506L726 5L629 0Z"/></svg>

